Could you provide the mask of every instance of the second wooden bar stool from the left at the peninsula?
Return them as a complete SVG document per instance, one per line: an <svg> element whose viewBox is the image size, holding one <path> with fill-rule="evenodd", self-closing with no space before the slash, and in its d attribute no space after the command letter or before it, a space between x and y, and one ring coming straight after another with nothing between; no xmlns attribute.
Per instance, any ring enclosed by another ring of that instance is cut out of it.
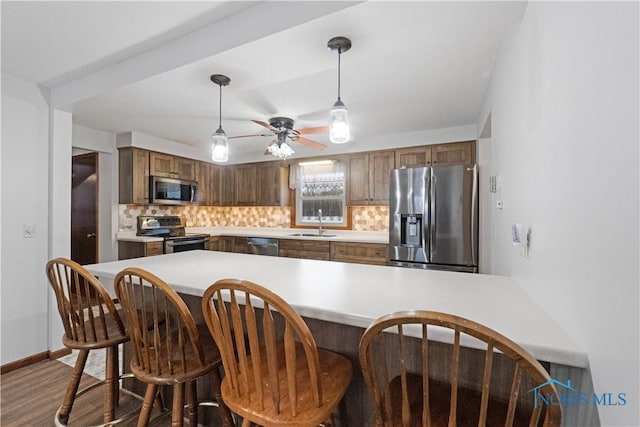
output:
<svg viewBox="0 0 640 427"><path fill-rule="evenodd" d="M160 385L173 386L174 427L183 425L185 385L188 385L189 425L198 425L196 379L205 375L211 375L223 424L233 426L231 413L220 398L220 352L206 326L197 326L182 298L166 282L145 270L125 269L116 275L114 282L131 335L131 371L147 384L138 426L149 423ZM152 316L137 315L141 310Z"/></svg>

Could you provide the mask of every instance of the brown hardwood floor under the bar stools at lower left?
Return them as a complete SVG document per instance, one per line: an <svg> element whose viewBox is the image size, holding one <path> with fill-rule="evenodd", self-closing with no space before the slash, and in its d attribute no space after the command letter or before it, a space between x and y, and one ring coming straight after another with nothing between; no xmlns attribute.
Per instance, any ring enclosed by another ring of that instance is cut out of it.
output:
<svg viewBox="0 0 640 427"><path fill-rule="evenodd" d="M53 417L62 403L71 372L72 368L62 362L45 360L0 376L0 425L53 426ZM84 374L80 389L96 382L96 378ZM102 392L102 387L96 387L76 400L69 426L102 423ZM137 398L127 392L121 392L118 415L126 414L139 405L140 401ZM170 401L168 405L171 405ZM219 425L217 409L204 409L199 412L207 419L203 420L204 425ZM137 416L119 425L135 426L136 421ZM171 417L167 415L156 418L151 425L169 426ZM185 425L188 425L188 422L185 422Z"/></svg>

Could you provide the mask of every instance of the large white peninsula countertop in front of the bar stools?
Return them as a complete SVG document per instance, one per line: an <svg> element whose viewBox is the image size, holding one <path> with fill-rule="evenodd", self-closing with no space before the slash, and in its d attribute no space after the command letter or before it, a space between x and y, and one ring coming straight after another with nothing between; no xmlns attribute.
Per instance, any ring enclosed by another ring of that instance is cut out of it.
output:
<svg viewBox="0 0 640 427"><path fill-rule="evenodd" d="M399 310L447 312L497 330L539 360L588 366L584 349L504 276L211 251L86 267L112 292L112 279L126 267L148 270L176 291L195 296L219 279L249 280L279 294L302 316L363 328Z"/></svg>

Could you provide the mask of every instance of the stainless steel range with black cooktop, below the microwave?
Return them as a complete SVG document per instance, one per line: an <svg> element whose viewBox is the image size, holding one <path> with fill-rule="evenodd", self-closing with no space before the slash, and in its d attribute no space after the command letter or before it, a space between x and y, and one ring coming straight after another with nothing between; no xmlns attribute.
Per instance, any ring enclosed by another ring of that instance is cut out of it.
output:
<svg viewBox="0 0 640 427"><path fill-rule="evenodd" d="M164 238L165 254L206 249L208 234L185 232L185 221L180 216L138 216L138 236Z"/></svg>

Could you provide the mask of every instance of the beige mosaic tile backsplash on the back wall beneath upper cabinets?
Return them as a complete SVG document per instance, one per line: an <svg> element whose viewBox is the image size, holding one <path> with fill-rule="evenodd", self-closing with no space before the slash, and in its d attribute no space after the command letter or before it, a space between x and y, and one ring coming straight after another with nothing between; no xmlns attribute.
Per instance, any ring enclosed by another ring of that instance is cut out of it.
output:
<svg viewBox="0 0 640 427"><path fill-rule="evenodd" d="M291 210L278 206L141 206L119 205L118 227L135 230L138 215L180 215L187 227L291 227ZM388 206L353 206L353 230L385 231L389 228Z"/></svg>

